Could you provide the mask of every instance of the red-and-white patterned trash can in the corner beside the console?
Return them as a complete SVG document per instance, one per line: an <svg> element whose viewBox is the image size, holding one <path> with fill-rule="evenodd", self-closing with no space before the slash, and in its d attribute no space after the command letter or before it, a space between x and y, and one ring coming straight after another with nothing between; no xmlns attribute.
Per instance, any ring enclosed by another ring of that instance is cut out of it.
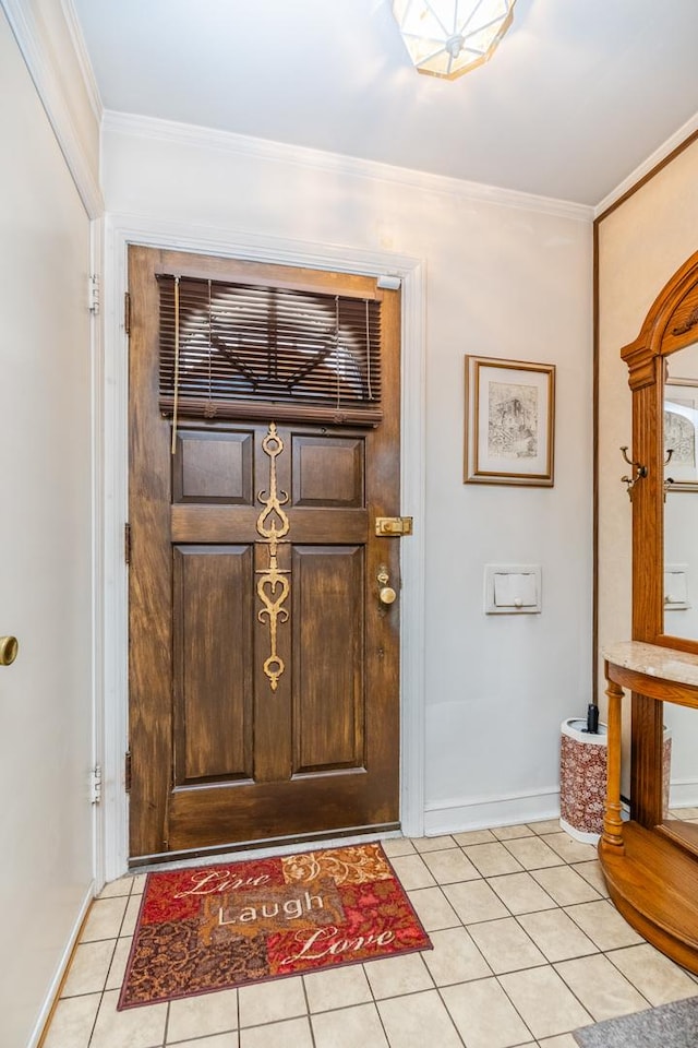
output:
<svg viewBox="0 0 698 1048"><path fill-rule="evenodd" d="M576 841L597 844L603 831L606 801L607 739L585 731L586 718L569 717L561 725L559 824Z"/></svg>

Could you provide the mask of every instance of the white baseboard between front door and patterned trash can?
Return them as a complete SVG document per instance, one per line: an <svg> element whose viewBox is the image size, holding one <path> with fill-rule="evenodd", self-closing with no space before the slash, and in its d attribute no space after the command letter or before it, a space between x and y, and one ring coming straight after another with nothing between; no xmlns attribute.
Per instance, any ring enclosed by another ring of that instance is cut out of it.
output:
<svg viewBox="0 0 698 1048"><path fill-rule="evenodd" d="M559 789L502 797L459 798L426 805L424 833L428 837L491 826L513 826L559 818Z"/></svg>

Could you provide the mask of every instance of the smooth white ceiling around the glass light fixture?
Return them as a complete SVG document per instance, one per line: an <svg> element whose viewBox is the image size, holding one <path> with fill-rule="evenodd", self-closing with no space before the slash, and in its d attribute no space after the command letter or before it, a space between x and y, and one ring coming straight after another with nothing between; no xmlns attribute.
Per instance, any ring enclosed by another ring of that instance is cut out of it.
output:
<svg viewBox="0 0 698 1048"><path fill-rule="evenodd" d="M598 204L698 114L698 0L518 0L418 74L390 0L73 0L107 109Z"/></svg>

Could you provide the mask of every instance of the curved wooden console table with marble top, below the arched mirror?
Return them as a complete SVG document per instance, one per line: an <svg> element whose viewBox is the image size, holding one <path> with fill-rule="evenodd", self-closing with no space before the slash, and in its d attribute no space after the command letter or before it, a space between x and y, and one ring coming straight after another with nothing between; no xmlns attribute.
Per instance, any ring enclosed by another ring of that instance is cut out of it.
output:
<svg viewBox="0 0 698 1048"><path fill-rule="evenodd" d="M698 827L678 820L641 825L621 818L623 689L698 708L698 656L629 641L604 648L609 771L599 859L626 920L678 964L698 973Z"/></svg>

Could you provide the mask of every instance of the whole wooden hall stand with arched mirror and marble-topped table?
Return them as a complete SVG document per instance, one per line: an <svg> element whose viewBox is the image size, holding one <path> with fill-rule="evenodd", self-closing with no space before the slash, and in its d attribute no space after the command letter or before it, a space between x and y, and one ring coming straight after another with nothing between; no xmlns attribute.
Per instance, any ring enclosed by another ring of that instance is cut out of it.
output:
<svg viewBox="0 0 698 1048"><path fill-rule="evenodd" d="M599 858L626 919L698 973L698 821L669 810L664 760L669 724L698 764L698 252L621 355L633 392L631 475L623 478L633 502L633 639L604 650L609 774ZM633 696L629 821L621 805L623 689ZM698 767L690 778L695 786Z"/></svg>

